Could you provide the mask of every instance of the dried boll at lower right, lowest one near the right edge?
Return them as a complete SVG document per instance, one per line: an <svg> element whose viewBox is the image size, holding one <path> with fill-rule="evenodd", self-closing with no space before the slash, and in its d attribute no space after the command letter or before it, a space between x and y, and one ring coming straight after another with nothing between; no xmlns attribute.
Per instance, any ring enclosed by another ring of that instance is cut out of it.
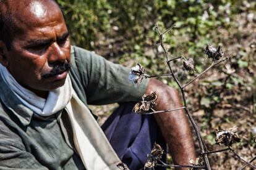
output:
<svg viewBox="0 0 256 170"><path fill-rule="evenodd" d="M233 145L234 143L240 142L241 138L236 134L237 127L234 126L227 131L224 131L223 129L216 129L216 144L217 145L225 145L226 147L229 147Z"/></svg>

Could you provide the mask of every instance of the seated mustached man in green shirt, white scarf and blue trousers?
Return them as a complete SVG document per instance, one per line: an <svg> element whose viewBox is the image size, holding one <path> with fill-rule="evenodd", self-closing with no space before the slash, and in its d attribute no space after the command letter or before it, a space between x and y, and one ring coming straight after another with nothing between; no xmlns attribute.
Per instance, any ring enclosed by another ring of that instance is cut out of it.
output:
<svg viewBox="0 0 256 170"><path fill-rule="evenodd" d="M87 104L156 91L155 109L166 110L181 106L179 95L156 79L137 88L127 68L71 47L53 0L0 0L0 62L0 169L116 169L119 158L139 169L163 142L158 126L174 163L195 159L184 111L140 116L129 103L103 125L113 150Z"/></svg>

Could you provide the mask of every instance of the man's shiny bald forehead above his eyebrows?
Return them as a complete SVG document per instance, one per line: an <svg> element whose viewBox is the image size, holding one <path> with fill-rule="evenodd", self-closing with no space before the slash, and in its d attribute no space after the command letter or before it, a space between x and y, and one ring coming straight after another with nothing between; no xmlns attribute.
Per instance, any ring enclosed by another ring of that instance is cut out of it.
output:
<svg viewBox="0 0 256 170"><path fill-rule="evenodd" d="M24 2L21 3L20 2ZM15 4L14 22L24 34L42 34L49 31L66 31L66 24L58 4L51 0L22 0Z"/></svg>

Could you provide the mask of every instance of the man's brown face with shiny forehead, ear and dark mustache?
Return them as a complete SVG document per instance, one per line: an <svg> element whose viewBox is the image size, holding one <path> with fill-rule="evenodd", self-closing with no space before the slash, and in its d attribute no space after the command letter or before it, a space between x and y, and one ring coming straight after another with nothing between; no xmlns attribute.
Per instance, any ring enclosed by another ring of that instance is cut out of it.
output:
<svg viewBox="0 0 256 170"><path fill-rule="evenodd" d="M59 7L32 1L15 17L23 33L14 37L10 51L4 50L1 63L32 91L62 86L70 68L70 41Z"/></svg>

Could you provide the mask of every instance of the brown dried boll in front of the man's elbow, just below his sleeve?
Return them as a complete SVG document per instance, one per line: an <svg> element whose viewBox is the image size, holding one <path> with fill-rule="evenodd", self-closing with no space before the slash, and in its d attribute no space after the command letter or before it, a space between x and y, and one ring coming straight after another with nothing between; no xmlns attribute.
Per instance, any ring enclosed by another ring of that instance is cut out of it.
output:
<svg viewBox="0 0 256 170"><path fill-rule="evenodd" d="M156 92L151 92L151 94L144 94L142 96L142 101L135 104L132 111L135 113L147 113L150 109L156 105L157 95Z"/></svg>

